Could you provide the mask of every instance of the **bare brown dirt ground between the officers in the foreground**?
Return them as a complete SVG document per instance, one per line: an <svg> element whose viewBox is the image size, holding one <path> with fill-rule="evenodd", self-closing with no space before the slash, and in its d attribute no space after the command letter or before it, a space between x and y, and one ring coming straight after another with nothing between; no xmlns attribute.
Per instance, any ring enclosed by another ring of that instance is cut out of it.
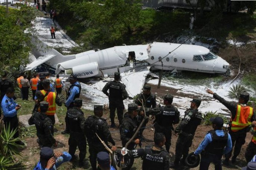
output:
<svg viewBox="0 0 256 170"><path fill-rule="evenodd" d="M103 115L103 117L107 117L107 115ZM110 125L110 120L107 119L108 124ZM175 127L176 125L174 125ZM68 145L68 137L69 135L62 135L60 132L62 131L62 129L60 128L64 128L64 126L62 124L57 124L56 128L59 129L55 129L55 133L54 133L54 137L56 138L56 140L58 141L58 146L57 147L53 147L54 152L62 152L62 151L68 151L69 145ZM117 128L109 128L110 132L112 134L113 139L116 141L116 146L121 147L121 141L120 141L120 135L119 135L119 129ZM143 135L145 138L145 142L143 142L142 147L145 147L146 145L151 145L153 144L153 119L150 118L149 123L147 124L147 128L144 130ZM205 125L200 125L197 128L196 134L194 136L193 139L193 144L190 147L190 152L195 151L196 148L198 147L198 145L200 144L200 142L203 140L203 138L206 135L206 132L209 131L211 129L211 126L205 126ZM251 135L248 133L247 137L246 137L246 143L243 145L242 150L240 155L238 156L238 161L236 165L231 165L230 167L223 167L223 169L230 169L230 170L235 170L235 169L240 169L243 166L246 166L246 162L245 162L245 158L244 158L244 153L246 150L247 145L250 142L251 139ZM40 153L40 147L37 144L37 137L33 137L33 138L27 138L26 139L26 143L27 143L27 148L25 150L23 150L23 154L22 154L22 160L24 161L24 164L26 164L26 166L29 167L29 169L33 169L33 167L35 166L35 164L38 162L39 160L39 153ZM171 149L170 149L170 158L171 161L174 160L175 158L175 145L176 145L176 141L177 141L177 137L175 135L172 135L172 140L171 140ZM76 154L78 155L79 151L77 150ZM83 167L78 167L78 162L75 161L74 163L65 163L63 164L59 169L62 170L71 170L71 169L76 169L76 170L80 170L80 169L91 169L90 163L88 161L88 146L87 146L87 161L85 163L85 165ZM132 170L140 170L141 169L141 159L138 158L135 160L134 166L132 167ZM199 167L194 168L194 170L198 170ZM211 164L209 170L213 170L214 166Z"/></svg>

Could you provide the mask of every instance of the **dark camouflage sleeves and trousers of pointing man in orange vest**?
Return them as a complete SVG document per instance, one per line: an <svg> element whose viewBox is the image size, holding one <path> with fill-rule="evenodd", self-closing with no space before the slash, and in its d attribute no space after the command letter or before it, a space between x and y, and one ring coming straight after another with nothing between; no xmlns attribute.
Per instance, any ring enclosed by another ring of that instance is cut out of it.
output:
<svg viewBox="0 0 256 170"><path fill-rule="evenodd" d="M232 115L231 119L234 119L235 115L237 113L238 103L237 102L229 102L229 101L223 99L221 96L219 96L216 93L213 94L213 97L214 97L214 99L219 100L219 102L221 102L224 106L226 106L228 108L228 110L230 110L231 115ZM255 120L256 120L255 112L253 112L253 116L250 121L252 122ZM239 155L239 153L241 151L241 147L245 143L245 138L246 138L246 133L247 133L246 131L247 131L247 128L241 129L236 132L231 131L231 129L229 130L229 134L230 134L231 140L232 140L232 147L235 147L234 153L233 153L234 158L232 158L234 160ZM230 151L230 153L225 154L225 160L228 161L229 158L231 157L231 155L232 155L232 150Z"/></svg>

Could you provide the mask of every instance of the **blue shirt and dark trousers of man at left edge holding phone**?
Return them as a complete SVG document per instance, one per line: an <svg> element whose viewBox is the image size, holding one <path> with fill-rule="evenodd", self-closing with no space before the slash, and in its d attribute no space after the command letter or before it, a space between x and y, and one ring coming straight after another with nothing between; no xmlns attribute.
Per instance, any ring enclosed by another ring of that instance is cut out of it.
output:
<svg viewBox="0 0 256 170"><path fill-rule="evenodd" d="M13 98L9 98L6 95L4 95L3 100L1 102L1 107L3 109L3 121L6 127L10 124L10 130L18 128L18 117L17 117L17 110L15 107L18 106L18 104L15 103ZM17 131L15 135L13 135L14 138L19 137L19 132Z"/></svg>

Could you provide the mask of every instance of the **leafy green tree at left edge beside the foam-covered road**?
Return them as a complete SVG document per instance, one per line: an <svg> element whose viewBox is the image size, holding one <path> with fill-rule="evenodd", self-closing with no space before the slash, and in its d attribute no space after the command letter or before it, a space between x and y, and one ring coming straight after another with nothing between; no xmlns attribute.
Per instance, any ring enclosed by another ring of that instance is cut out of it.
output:
<svg viewBox="0 0 256 170"><path fill-rule="evenodd" d="M6 11L0 8L0 72L28 63L29 37L24 32L32 19L28 10L31 9L11 10L6 16Z"/></svg>

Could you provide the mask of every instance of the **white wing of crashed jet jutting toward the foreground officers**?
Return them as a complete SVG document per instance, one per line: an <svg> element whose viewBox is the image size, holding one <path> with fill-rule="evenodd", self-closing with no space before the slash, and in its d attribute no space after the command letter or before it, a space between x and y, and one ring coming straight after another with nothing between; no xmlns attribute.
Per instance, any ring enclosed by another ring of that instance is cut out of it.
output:
<svg viewBox="0 0 256 170"><path fill-rule="evenodd" d="M120 73L121 80L126 86L126 90L130 97L134 97L141 93L141 89L145 84L147 75L150 74L149 68L138 68Z"/></svg>

